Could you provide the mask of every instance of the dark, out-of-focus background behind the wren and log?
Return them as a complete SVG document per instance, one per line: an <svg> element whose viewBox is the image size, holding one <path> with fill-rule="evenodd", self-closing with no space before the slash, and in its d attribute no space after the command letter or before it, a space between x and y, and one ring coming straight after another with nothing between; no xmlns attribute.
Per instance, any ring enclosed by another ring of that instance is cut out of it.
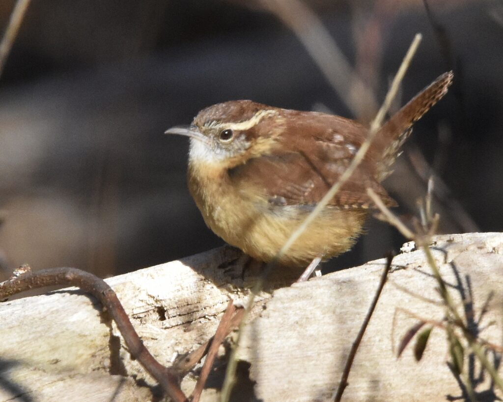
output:
<svg viewBox="0 0 503 402"><path fill-rule="evenodd" d="M0 3L0 27L14 3ZM414 126L386 187L407 219L432 166L442 231L501 230L503 3L304 4L379 102L416 32L424 39L401 103L454 69L453 88ZM295 34L262 5L32 2L0 78L3 277L22 263L105 277L223 244L188 193L188 141L162 134L203 107L253 99L354 117ZM367 228L332 267L380 258L403 242L375 219Z"/></svg>

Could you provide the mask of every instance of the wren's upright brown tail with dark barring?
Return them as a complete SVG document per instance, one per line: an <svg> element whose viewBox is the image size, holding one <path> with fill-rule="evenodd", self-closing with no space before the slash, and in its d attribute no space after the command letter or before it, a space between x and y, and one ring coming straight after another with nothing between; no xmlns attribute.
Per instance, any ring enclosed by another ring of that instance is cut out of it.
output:
<svg viewBox="0 0 503 402"><path fill-rule="evenodd" d="M440 75L380 128L373 144L374 150L382 154L384 162L382 170L378 172L379 180L384 180L388 176L389 168L395 162L401 145L412 131L410 128L412 124L447 94L453 76L452 71Z"/></svg>

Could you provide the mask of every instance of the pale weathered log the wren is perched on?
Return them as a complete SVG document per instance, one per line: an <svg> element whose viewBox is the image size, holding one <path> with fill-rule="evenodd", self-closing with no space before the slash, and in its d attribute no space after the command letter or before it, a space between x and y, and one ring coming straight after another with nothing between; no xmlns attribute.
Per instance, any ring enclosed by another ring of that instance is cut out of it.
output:
<svg viewBox="0 0 503 402"><path fill-rule="evenodd" d="M501 345L503 234L447 235L436 240L434 254L456 300L460 291L469 297L470 283L476 320L488 294L494 292L478 328L484 339ZM229 297L245 299L247 292L241 287L249 286L256 272L251 267L242 275L240 261L231 263L238 257L235 250L222 248L107 281L145 345L168 364L212 335ZM247 362L240 366L241 375L249 366L249 376L256 382L256 398L329 400L383 267L383 260L374 261L261 295L260 303L267 302L258 306L238 352ZM288 272L284 278L284 274L275 273L270 286L286 286L296 275ZM441 330L433 331L420 363L413 359L412 345L396 358L396 344L417 321L398 312L398 307L428 319L443 316L442 307L414 293L439 300L423 252L409 245L393 261L343 400L444 401L462 395L446 364L449 354ZM495 324L489 325L493 320ZM152 379L131 361L123 341L116 338L115 326L110 329L96 302L80 292L57 291L4 302L0 323L0 401L151 398L150 389L142 384L153 385ZM217 400L225 353L222 348L202 400ZM477 376L478 365L475 368ZM183 381L188 394L196 375ZM251 382L248 385L235 400L253 400ZM492 391L502 396L491 388L487 374L476 391L485 391L481 400L494 400Z"/></svg>

